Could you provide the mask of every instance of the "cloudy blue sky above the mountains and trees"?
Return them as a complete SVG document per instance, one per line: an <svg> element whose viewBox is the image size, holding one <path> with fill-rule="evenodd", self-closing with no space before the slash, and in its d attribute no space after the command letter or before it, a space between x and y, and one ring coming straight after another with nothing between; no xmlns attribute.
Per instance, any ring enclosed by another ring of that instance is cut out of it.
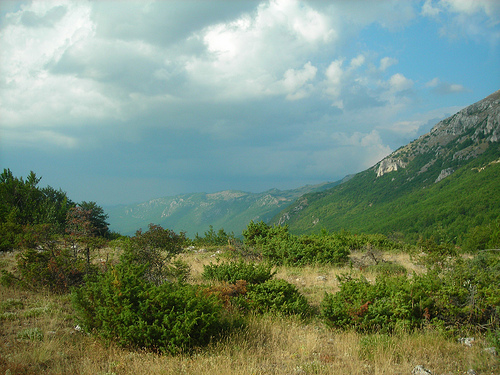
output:
<svg viewBox="0 0 500 375"><path fill-rule="evenodd" d="M500 89L500 1L0 2L0 169L75 202L294 189Z"/></svg>

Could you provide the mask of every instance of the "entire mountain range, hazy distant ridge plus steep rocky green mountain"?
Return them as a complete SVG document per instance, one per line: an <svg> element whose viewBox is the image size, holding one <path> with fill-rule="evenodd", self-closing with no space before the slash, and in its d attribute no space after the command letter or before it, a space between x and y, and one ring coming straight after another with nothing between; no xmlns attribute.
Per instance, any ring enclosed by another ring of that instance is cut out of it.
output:
<svg viewBox="0 0 500 375"><path fill-rule="evenodd" d="M373 167L342 181L263 193L195 193L105 207L111 230L149 223L189 237L213 226L240 235L250 220L322 229L456 241L500 225L500 91L440 121Z"/></svg>

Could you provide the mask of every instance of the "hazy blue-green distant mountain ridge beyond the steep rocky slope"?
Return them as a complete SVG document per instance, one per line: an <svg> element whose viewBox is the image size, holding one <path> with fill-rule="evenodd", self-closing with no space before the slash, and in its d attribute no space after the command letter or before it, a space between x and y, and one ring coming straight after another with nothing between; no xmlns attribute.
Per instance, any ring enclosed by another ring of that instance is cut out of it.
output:
<svg viewBox="0 0 500 375"><path fill-rule="evenodd" d="M176 232L185 231L189 237L196 233L203 235L210 225L238 236L250 220L268 222L301 195L329 189L338 183L286 191L272 189L263 193L227 190L183 194L104 208L109 215L110 229L124 235L132 235L137 229L147 229L148 224L154 223Z"/></svg>

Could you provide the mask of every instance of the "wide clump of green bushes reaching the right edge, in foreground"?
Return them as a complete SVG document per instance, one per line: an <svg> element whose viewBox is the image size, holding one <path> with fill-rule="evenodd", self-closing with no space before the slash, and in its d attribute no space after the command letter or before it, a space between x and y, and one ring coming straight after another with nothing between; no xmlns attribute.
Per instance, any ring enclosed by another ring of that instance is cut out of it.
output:
<svg viewBox="0 0 500 375"><path fill-rule="evenodd" d="M381 274L374 284L348 276L340 282L340 291L327 293L321 304L323 318L333 327L387 332L423 324L447 330L495 330L500 325L497 254L456 258L450 268L412 278Z"/></svg>

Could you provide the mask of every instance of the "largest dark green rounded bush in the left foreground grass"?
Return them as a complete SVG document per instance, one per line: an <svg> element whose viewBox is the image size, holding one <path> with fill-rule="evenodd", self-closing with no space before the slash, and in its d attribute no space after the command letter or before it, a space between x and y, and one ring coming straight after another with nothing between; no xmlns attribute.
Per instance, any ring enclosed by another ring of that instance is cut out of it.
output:
<svg viewBox="0 0 500 375"><path fill-rule="evenodd" d="M201 288L144 279L121 263L73 294L79 324L107 342L163 353L189 351L228 332L235 320Z"/></svg>

